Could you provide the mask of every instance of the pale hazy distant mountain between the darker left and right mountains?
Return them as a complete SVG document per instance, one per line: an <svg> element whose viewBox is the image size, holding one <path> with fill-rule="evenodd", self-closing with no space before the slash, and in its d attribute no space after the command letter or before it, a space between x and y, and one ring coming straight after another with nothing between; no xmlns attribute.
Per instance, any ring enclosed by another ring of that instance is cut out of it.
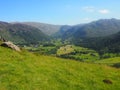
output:
<svg viewBox="0 0 120 90"><path fill-rule="evenodd" d="M45 24L45 23L38 23L38 22L22 22L22 24L36 27L49 36L58 32L62 27L62 25L52 25L52 24Z"/></svg>

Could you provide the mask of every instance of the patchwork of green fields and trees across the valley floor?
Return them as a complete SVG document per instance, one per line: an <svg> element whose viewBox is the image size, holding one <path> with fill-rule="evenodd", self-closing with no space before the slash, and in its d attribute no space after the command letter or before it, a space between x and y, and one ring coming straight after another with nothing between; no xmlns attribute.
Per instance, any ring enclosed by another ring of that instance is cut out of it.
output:
<svg viewBox="0 0 120 90"><path fill-rule="evenodd" d="M57 56L85 62L94 62L100 59L99 54L95 50L75 45L40 45L38 47L25 47L25 49L36 54Z"/></svg>

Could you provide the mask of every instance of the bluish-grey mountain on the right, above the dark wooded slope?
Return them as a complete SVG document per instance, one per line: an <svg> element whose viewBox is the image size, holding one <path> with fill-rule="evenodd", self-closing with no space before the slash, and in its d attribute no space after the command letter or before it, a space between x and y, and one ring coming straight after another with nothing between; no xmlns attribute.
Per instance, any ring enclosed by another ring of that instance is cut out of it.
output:
<svg viewBox="0 0 120 90"><path fill-rule="evenodd" d="M65 39L74 40L89 37L104 37L120 31L120 20L101 19L88 24L78 25L63 33Z"/></svg>

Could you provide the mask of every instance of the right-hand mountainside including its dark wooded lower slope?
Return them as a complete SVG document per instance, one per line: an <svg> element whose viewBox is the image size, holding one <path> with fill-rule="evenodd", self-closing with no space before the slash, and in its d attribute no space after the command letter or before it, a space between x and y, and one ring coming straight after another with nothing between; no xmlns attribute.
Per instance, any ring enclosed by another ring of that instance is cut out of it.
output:
<svg viewBox="0 0 120 90"><path fill-rule="evenodd" d="M77 46L91 48L104 53L117 53L120 50L120 20L101 19L88 24L79 24L60 30L62 41ZM56 36L59 36L59 33Z"/></svg>

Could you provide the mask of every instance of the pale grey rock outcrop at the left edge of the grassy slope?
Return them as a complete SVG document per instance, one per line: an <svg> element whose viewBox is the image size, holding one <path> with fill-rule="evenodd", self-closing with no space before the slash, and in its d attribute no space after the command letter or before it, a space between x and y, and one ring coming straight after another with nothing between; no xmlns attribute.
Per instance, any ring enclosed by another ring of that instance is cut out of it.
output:
<svg viewBox="0 0 120 90"><path fill-rule="evenodd" d="M13 49L13 50L15 50L15 51L18 51L18 52L21 51L18 46L16 46L15 44L13 44L13 43L10 42L10 41L8 41L8 42L3 42L3 43L1 44L1 46L11 48L11 49Z"/></svg>

